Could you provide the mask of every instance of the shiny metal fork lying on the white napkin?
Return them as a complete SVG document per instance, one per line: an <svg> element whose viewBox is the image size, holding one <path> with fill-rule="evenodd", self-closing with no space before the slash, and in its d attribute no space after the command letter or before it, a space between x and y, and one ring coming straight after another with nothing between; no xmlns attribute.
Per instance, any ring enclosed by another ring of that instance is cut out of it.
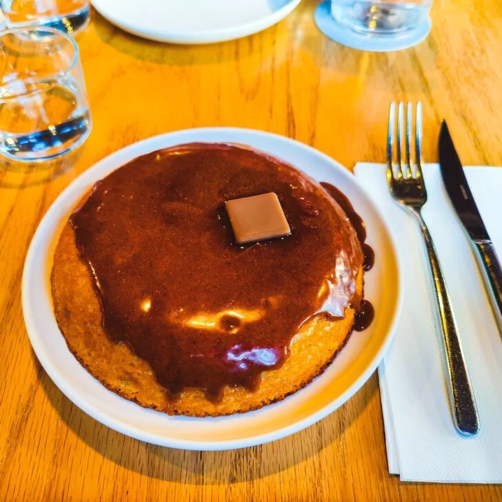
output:
<svg viewBox="0 0 502 502"><path fill-rule="evenodd" d="M390 104L387 141L387 179L394 201L399 203L401 208L414 215L422 231L429 258L430 272L434 279L439 319L441 320L441 328L443 330L453 421L456 430L461 434L470 436L479 432L476 401L474 401L474 393L472 392L467 365L463 357L462 345L450 305L450 297L443 279L443 272L439 265L434 243L421 214L423 205L427 202L427 190L425 190L422 172L422 106L420 102L416 103L414 169L412 169L412 154L410 152L412 103L408 103L406 108L406 124L404 127L404 104L401 101L397 112L397 139L395 140L396 103ZM402 151L403 128L405 129L404 155ZM394 143L396 143L395 149ZM396 150L396 163L393 162L394 150Z"/></svg>

